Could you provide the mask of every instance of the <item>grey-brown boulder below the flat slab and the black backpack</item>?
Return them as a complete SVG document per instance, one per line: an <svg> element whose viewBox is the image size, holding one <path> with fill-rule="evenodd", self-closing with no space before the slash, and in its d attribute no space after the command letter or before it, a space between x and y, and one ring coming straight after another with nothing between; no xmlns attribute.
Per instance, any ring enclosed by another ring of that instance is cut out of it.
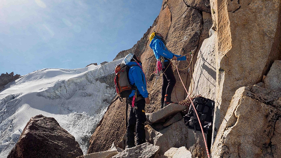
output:
<svg viewBox="0 0 281 158"><path fill-rule="evenodd" d="M147 141L160 147L159 154L164 155L170 148L187 147L192 155L197 157L206 157L206 149L202 133L189 129L184 124L184 119L177 121L163 129L153 128L154 126L145 126L145 135ZM207 138L207 135L205 134Z"/></svg>

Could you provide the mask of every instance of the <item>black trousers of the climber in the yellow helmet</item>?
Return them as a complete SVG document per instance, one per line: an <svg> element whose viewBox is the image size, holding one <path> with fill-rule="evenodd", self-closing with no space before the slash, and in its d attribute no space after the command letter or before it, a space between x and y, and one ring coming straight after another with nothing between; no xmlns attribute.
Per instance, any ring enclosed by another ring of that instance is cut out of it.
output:
<svg viewBox="0 0 281 158"><path fill-rule="evenodd" d="M167 99L171 99L172 91L174 89L176 80L175 75L172 69L172 65L170 62L164 62L165 69L162 69L162 72L164 72L162 76L162 90L161 90L161 108L164 107L164 99L165 95L167 94ZM169 67L168 67L169 65Z"/></svg>

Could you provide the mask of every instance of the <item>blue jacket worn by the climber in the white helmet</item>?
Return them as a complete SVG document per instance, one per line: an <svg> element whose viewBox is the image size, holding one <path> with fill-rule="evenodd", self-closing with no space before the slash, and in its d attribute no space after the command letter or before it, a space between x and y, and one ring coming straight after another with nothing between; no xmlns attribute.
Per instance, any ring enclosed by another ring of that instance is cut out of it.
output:
<svg viewBox="0 0 281 158"><path fill-rule="evenodd" d="M141 65L141 63L139 63ZM137 95L141 94L144 98L148 97L148 92L146 90L146 79L145 74L142 71L142 66L140 67L136 62L129 62L126 65L132 66L129 70L129 81L131 85L137 87ZM129 97L135 95L133 90Z"/></svg>

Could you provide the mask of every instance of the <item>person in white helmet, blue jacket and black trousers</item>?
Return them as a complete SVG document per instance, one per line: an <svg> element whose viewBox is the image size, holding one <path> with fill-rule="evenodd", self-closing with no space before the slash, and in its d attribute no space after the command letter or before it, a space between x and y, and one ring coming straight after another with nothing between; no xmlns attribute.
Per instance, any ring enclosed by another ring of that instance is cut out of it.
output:
<svg viewBox="0 0 281 158"><path fill-rule="evenodd" d="M125 57L124 62L130 67L128 72L130 85L136 87L128 98L131 108L127 126L127 144L128 148L131 148L135 146L135 126L136 145L145 143L145 104L150 104L150 100L146 90L146 79L142 70L141 59L130 53Z"/></svg>

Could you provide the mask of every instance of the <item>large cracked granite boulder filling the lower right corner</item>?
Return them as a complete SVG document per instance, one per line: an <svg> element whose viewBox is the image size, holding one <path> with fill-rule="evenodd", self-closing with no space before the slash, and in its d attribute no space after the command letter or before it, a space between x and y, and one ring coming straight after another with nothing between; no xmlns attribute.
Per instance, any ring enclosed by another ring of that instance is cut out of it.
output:
<svg viewBox="0 0 281 158"><path fill-rule="evenodd" d="M211 149L212 157L281 157L281 92L239 88Z"/></svg>

